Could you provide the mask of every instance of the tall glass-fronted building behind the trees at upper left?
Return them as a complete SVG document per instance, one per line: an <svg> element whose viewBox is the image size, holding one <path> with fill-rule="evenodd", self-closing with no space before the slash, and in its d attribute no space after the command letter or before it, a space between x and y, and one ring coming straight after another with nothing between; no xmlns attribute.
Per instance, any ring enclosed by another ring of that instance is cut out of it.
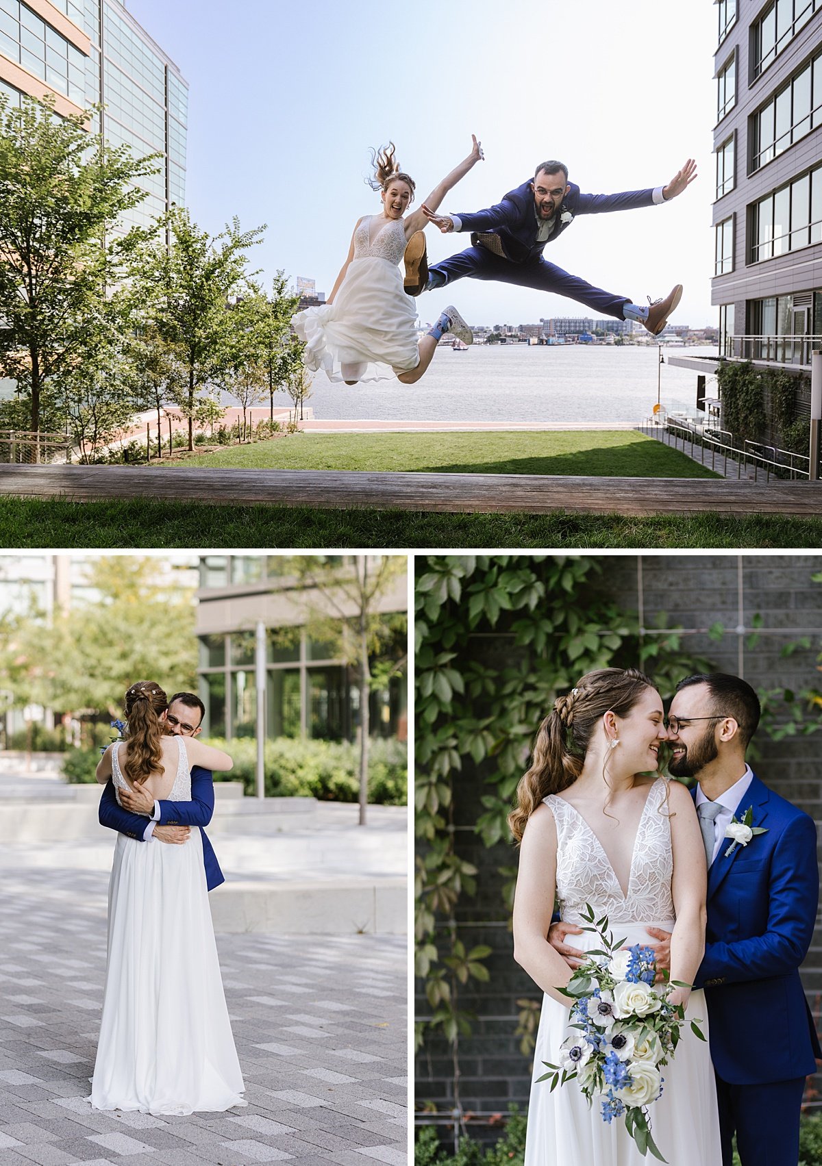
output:
<svg viewBox="0 0 822 1166"><path fill-rule="evenodd" d="M138 157L161 155L126 225L183 204L188 85L121 0L0 0L0 91L15 104L50 94L64 115L101 104L92 128Z"/></svg>

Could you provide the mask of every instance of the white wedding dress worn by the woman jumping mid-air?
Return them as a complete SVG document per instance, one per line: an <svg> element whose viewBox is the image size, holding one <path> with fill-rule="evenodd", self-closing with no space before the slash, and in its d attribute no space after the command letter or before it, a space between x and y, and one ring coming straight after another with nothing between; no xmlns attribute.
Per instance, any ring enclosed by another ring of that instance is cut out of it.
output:
<svg viewBox="0 0 822 1166"><path fill-rule="evenodd" d="M354 258L333 303L298 311L291 323L305 343L310 372L324 368L329 380L387 380L420 361L416 304L402 288L406 253L401 219L389 219L370 241L366 215L354 231Z"/></svg>

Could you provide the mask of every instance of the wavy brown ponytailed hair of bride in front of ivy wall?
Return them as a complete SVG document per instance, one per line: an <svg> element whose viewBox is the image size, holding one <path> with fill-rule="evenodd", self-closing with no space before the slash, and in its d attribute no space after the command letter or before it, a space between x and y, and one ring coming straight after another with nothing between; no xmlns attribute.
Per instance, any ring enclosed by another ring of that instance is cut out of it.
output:
<svg viewBox="0 0 822 1166"><path fill-rule="evenodd" d="M606 712L625 717L654 683L637 668L599 668L586 673L540 725L531 756L531 768L517 787L517 808L508 826L521 842L526 822L548 794L572 785L582 773L591 737ZM604 775L604 774L603 774Z"/></svg>

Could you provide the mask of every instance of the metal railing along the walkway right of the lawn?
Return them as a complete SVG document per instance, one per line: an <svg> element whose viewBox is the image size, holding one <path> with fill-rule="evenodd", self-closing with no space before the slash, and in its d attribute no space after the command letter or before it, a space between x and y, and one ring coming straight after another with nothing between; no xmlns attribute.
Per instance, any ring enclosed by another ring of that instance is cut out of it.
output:
<svg viewBox="0 0 822 1166"><path fill-rule="evenodd" d="M736 437L728 429L716 429L711 426L696 424L683 419L673 421L667 417L659 421L649 417L640 429L649 437L662 440L662 434L670 434L674 449L681 449L688 457L715 470L725 478L735 476L738 479L760 478L770 482L771 477L780 479L809 478L809 454L794 454L778 445L764 445L761 442L744 441L742 448L735 444Z"/></svg>

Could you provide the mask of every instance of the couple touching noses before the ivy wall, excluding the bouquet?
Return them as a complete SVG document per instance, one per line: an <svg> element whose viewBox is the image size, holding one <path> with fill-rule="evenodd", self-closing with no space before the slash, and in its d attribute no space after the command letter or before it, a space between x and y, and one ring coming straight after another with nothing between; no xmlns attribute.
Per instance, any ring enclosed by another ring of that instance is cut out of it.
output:
<svg viewBox="0 0 822 1166"><path fill-rule="evenodd" d="M645 1161L577 1081L551 1091L536 1080L574 1034L557 989L597 943L578 926L586 904L693 985L672 1000L709 1044L686 1025L648 1108L665 1159L731 1166L736 1133L743 1166L796 1166L805 1079L822 1056L799 975L816 920L816 830L745 760L759 714L750 684L711 673L683 680L666 717L647 676L605 668L542 722L510 819L521 842L514 958L545 992L526 1166ZM695 778L693 789L658 772L663 742L669 772Z"/></svg>

